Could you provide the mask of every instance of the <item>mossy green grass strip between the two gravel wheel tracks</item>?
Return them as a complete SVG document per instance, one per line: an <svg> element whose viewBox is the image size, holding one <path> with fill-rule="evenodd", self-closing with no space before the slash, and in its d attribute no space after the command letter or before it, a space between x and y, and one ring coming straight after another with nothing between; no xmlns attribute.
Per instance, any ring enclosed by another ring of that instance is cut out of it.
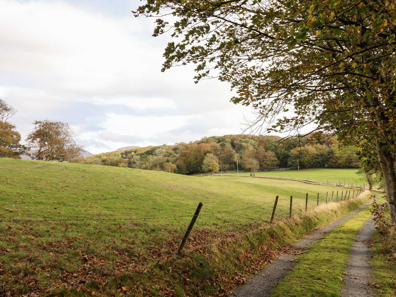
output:
<svg viewBox="0 0 396 297"><path fill-rule="evenodd" d="M297 265L271 296L340 296L352 241L370 217L371 208L358 212L297 257Z"/></svg>

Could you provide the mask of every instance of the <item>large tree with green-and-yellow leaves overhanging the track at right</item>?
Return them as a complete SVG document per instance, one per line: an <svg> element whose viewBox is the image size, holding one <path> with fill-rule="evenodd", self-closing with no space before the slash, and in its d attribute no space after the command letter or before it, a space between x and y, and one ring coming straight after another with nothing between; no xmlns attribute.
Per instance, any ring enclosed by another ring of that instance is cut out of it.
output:
<svg viewBox="0 0 396 297"><path fill-rule="evenodd" d="M195 63L196 81L229 82L232 102L258 120L293 109L270 130L316 123L371 144L396 223L394 0L147 0L134 13L157 18L154 36L175 38L162 70Z"/></svg>

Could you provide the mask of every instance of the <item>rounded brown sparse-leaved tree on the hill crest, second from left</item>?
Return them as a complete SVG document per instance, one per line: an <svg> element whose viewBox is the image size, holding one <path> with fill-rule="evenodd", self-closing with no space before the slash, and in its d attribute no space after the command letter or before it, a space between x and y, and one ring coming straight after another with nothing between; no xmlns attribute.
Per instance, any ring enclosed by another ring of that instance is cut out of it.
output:
<svg viewBox="0 0 396 297"><path fill-rule="evenodd" d="M74 141L74 131L67 123L44 120L33 124L26 138L28 145L37 149L30 155L32 159L69 162L80 157L82 146Z"/></svg>

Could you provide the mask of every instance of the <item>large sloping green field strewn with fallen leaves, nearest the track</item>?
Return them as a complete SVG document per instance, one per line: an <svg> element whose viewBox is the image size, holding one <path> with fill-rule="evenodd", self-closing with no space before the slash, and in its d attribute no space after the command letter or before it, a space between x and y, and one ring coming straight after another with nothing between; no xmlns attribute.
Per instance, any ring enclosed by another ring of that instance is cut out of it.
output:
<svg viewBox="0 0 396 297"><path fill-rule="evenodd" d="M11 295L101 291L182 296L186 286L189 292L203 286L218 289L218 282L216 286L195 283L196 287L185 280L168 282L175 278L169 271L161 286L154 286L155 278L165 277L163 261L174 261L199 202L204 206L183 252L196 255L195 262L206 263L213 244L245 236L268 223L276 195L280 196L276 219L280 219L289 214L291 195L293 214L298 214L307 192L310 210L318 193L324 203L326 192L339 190L297 181L197 179L6 158L0 159L0 168L0 293ZM188 269L188 261L175 263L173 269ZM114 280L115 271L123 272L125 279Z"/></svg>

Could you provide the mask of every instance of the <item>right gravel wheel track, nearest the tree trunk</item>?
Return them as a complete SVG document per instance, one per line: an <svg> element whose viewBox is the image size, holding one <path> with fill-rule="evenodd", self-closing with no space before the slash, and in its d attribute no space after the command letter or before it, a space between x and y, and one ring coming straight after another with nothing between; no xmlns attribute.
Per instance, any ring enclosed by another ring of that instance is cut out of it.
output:
<svg viewBox="0 0 396 297"><path fill-rule="evenodd" d="M374 230L374 221L370 217L362 228L359 229L358 234L356 234L346 262L345 272L348 273L348 275L344 277L344 286L341 290L341 296L373 296L371 287L368 284L368 276L370 274L368 262L370 259L369 240L373 236Z"/></svg>

